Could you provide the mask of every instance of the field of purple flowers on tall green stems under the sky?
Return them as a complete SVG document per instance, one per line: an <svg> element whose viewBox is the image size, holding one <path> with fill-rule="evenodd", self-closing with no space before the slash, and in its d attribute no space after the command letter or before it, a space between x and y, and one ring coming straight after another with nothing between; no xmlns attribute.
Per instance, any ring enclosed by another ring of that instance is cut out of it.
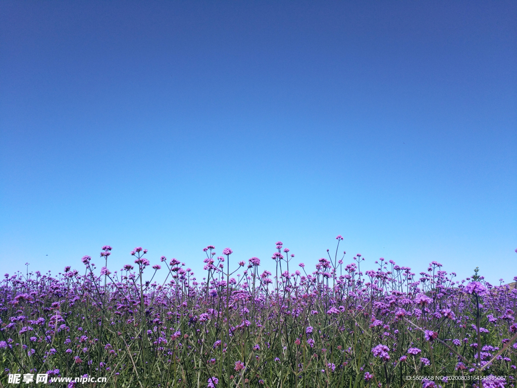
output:
<svg viewBox="0 0 517 388"><path fill-rule="evenodd" d="M364 271L359 254L345 264L336 238L312 270L278 242L274 273L214 246L201 276L140 247L110 271L104 246L100 270L85 256L80 271L6 274L0 383L47 374L107 377L70 387L513 386L515 289L477 272L458 281L437 262L416 275L381 258Z"/></svg>

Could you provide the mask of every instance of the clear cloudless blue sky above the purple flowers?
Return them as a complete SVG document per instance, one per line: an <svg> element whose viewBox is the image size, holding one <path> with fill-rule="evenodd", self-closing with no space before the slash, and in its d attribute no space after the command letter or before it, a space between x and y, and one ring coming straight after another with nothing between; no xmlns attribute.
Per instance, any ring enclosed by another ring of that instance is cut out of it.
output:
<svg viewBox="0 0 517 388"><path fill-rule="evenodd" d="M0 3L0 271L143 246L517 275L517 3ZM47 256L48 255L48 256ZM97 264L100 259L94 260ZM267 268L265 266L265 268ZM100 266L99 266L100 268Z"/></svg>

